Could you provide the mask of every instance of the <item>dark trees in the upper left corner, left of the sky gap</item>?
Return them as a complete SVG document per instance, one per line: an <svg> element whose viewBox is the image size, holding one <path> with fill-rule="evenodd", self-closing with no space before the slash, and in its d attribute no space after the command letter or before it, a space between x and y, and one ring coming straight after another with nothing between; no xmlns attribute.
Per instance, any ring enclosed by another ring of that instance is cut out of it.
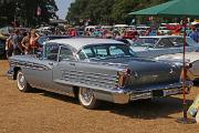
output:
<svg viewBox="0 0 199 133"><path fill-rule="evenodd" d="M55 18L54 0L4 0L0 4L0 25L13 23L35 25Z"/></svg>

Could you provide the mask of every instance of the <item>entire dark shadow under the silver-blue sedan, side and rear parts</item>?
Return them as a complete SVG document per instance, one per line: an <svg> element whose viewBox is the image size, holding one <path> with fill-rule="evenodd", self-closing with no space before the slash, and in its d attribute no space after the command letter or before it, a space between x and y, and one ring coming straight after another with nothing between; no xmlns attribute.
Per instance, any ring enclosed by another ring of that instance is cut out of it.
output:
<svg viewBox="0 0 199 133"><path fill-rule="evenodd" d="M64 102L80 104L77 99L56 94L53 92L35 90L33 93L41 93L44 96L53 98ZM192 103L187 100L187 105ZM132 119L154 120L158 117L170 117L170 114L182 112L182 100L178 98L159 98L155 100L140 100L129 102L128 104L115 104L109 102L102 102L97 111L109 111L111 113L128 116Z"/></svg>

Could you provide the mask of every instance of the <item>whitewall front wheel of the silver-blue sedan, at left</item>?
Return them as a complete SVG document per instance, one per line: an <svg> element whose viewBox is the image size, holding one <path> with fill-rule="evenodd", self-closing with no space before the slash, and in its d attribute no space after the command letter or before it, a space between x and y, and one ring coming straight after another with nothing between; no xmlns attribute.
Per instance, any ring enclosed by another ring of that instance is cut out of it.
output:
<svg viewBox="0 0 199 133"><path fill-rule="evenodd" d="M31 91L31 86L27 82L24 73L21 70L19 70L18 74L17 74L17 84L18 84L19 91L21 91L21 92L29 92L29 91Z"/></svg>

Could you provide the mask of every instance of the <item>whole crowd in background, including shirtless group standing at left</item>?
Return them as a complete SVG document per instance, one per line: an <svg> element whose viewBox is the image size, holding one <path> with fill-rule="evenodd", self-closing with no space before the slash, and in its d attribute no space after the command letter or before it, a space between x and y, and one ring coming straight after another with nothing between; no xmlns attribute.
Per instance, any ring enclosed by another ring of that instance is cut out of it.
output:
<svg viewBox="0 0 199 133"><path fill-rule="evenodd" d="M172 31L174 35L180 35L181 28ZM36 29L31 29L29 31L20 31L15 29L13 33L10 33L6 41L6 53L7 58L17 54L32 54L35 53L38 48L38 39L40 35L46 35L48 33L44 31L43 34L38 32ZM135 41L139 35L165 35L164 33L159 33L157 29L149 28L144 31L138 31L135 28L121 28L121 29L104 29L104 28L67 28L63 31L55 29L50 34L65 34L70 37L93 37L93 38L105 38L105 39L129 39ZM170 35L168 33L168 35ZM192 40L199 42L199 32L192 27L191 31L187 33Z"/></svg>

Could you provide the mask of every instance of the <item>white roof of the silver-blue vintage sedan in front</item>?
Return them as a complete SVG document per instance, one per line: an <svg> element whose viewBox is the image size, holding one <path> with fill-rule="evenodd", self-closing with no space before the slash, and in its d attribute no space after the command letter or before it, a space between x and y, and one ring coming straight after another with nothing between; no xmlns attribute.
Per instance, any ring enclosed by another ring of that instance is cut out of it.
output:
<svg viewBox="0 0 199 133"><path fill-rule="evenodd" d="M71 45L73 48L75 48L76 50L80 50L81 48L85 47L85 45L91 45L91 44L109 44L109 43L114 43L114 44L125 44L123 42L116 41L116 40L112 40L112 39L93 39L93 38L72 38L72 39L55 39L55 40L51 40L49 41L51 42L55 42L55 43L60 43L60 44L65 44L65 45Z"/></svg>

